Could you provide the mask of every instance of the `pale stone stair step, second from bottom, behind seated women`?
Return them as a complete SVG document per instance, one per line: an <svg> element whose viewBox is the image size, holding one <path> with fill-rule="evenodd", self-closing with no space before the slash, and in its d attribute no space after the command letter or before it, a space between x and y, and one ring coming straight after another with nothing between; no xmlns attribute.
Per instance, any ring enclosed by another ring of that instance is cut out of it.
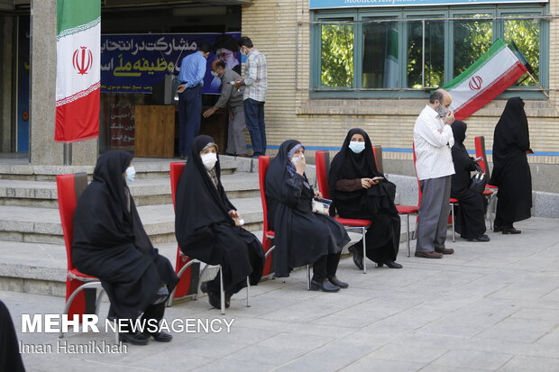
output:
<svg viewBox="0 0 559 372"><path fill-rule="evenodd" d="M262 227L260 197L231 199L243 215L247 230ZM138 207L144 228L154 243L175 241L175 213L171 204ZM58 209L0 205L0 240L63 244Z"/></svg>

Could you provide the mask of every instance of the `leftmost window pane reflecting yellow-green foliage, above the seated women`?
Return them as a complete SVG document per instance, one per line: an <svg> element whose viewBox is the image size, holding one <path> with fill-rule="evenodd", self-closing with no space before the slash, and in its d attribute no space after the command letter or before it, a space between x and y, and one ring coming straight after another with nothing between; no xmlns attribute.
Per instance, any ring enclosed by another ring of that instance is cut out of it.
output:
<svg viewBox="0 0 559 372"><path fill-rule="evenodd" d="M353 86L353 24L323 24L320 30L321 85Z"/></svg>

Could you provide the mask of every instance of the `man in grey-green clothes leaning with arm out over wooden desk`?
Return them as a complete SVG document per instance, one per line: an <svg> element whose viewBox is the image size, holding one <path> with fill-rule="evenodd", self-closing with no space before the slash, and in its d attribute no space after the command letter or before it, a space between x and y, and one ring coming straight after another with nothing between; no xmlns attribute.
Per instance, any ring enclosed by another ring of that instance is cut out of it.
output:
<svg viewBox="0 0 559 372"><path fill-rule="evenodd" d="M240 75L231 68L227 68L225 61L215 59L212 62L212 75L221 79L221 96L213 107L208 108L203 116L209 117L219 108L227 107L229 111L229 128L227 134L226 155L246 157L246 139L244 138L244 86L235 89L230 83Z"/></svg>

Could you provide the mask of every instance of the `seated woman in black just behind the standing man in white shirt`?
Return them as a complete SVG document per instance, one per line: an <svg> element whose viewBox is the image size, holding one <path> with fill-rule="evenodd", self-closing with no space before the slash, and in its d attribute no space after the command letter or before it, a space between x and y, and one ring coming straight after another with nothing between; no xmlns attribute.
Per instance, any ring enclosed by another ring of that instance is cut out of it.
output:
<svg viewBox="0 0 559 372"><path fill-rule="evenodd" d="M464 147L463 141L466 139L465 122L455 121L452 125L454 134L453 162L454 175L450 190L451 197L458 199L455 206L456 231L463 239L469 241L489 241L485 234L485 208L487 199L485 196L470 190L471 172L479 166L475 164L468 151Z"/></svg>

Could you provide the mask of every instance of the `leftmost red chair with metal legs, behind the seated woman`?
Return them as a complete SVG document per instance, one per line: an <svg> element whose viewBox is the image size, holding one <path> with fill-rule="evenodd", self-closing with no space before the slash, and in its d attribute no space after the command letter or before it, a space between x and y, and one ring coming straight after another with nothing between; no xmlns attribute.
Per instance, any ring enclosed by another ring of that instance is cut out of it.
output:
<svg viewBox="0 0 559 372"><path fill-rule="evenodd" d="M79 322L81 322L82 315L86 313L99 313L99 306L105 293L98 278L81 273L78 268L74 268L72 263L74 212L76 211L79 195L86 189L87 174L59 175L56 177L56 186L59 198L60 222L62 224L68 261L64 314L68 314L69 319L73 319L74 315L78 314ZM99 295L96 295L96 289L100 290ZM62 332L62 327L60 327L60 338L62 337L64 337L64 333ZM118 334L116 337L118 340Z"/></svg>

